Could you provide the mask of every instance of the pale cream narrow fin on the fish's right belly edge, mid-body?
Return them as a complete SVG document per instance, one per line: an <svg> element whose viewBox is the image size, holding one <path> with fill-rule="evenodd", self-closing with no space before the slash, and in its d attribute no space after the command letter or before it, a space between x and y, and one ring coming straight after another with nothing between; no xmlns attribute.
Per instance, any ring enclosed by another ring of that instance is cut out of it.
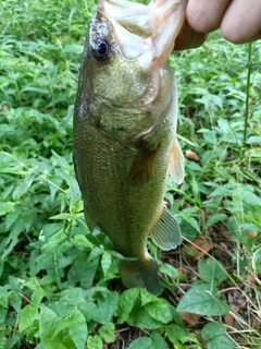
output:
<svg viewBox="0 0 261 349"><path fill-rule="evenodd" d="M184 156L177 140L175 141L171 151L170 174L173 181L177 184L182 184L184 181Z"/></svg>

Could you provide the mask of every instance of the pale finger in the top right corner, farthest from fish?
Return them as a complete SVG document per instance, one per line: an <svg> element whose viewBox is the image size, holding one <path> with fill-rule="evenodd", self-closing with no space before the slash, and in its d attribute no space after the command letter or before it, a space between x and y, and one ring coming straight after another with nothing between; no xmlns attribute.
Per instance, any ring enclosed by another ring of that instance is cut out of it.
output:
<svg viewBox="0 0 261 349"><path fill-rule="evenodd" d="M261 1L234 0L221 22L221 33L234 44L261 38Z"/></svg>

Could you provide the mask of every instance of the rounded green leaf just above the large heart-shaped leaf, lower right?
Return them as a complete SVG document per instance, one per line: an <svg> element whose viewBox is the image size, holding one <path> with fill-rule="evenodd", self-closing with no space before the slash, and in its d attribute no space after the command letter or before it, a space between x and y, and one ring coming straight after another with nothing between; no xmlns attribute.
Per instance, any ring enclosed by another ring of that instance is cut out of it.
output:
<svg viewBox="0 0 261 349"><path fill-rule="evenodd" d="M199 274L208 284L222 282L227 279L227 275L221 266L223 266L222 263L217 263L213 258L199 260L198 262Z"/></svg>

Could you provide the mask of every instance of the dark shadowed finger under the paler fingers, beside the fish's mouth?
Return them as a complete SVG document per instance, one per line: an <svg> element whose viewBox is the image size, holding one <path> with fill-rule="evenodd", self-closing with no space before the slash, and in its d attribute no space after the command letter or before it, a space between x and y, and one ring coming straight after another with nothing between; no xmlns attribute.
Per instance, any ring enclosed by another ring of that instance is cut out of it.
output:
<svg viewBox="0 0 261 349"><path fill-rule="evenodd" d="M185 21L178 36L175 40L175 50L185 50L188 48L197 48L207 39L207 35L195 32L187 21Z"/></svg>

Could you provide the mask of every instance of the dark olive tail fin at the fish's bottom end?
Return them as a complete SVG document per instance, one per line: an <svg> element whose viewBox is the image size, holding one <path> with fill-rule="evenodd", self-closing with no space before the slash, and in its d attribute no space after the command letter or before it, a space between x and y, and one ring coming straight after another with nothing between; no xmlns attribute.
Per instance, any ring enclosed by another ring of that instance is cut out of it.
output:
<svg viewBox="0 0 261 349"><path fill-rule="evenodd" d="M144 261L121 261L120 264L120 274L125 287L145 287L156 296L162 292L158 272L158 264L151 256Z"/></svg>

